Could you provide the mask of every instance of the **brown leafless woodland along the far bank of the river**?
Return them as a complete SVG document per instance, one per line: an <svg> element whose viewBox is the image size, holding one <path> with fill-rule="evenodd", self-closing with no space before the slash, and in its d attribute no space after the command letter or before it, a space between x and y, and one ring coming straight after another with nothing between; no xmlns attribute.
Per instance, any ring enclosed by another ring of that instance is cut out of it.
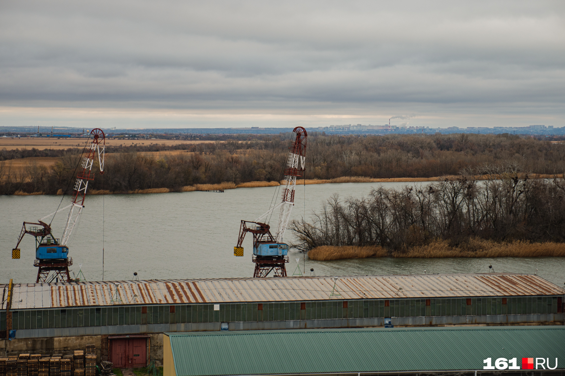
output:
<svg viewBox="0 0 565 376"><path fill-rule="evenodd" d="M192 184L280 180L291 139L289 132L212 143L112 147L107 149L105 174L96 175L90 188L174 191ZM146 153L155 151L175 152L160 157ZM58 161L49 167L28 163L16 168L10 161L0 161L0 194L54 194L59 189L70 193L69 182L74 179L82 150L51 152ZM10 153L2 151L0 159ZM510 134L339 136L311 132L306 149L306 179L430 178L485 165L515 165L537 174L560 174L565 171L565 144Z"/></svg>

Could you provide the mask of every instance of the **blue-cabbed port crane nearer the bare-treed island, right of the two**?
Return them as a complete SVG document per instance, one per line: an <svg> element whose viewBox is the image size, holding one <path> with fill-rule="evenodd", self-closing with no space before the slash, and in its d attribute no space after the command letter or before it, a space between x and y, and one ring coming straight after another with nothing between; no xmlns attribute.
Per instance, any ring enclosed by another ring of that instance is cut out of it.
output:
<svg viewBox="0 0 565 376"><path fill-rule="evenodd" d="M255 263L253 277L267 277L271 271L276 277L286 277L285 263L288 263L288 244L282 242L282 237L290 219L290 211L294 206L296 178L304 175L306 161L306 130L303 127L295 127L293 132L294 140L286 156L281 201L272 205L267 213L254 221L242 220L237 245L233 247L234 256L243 256L242 244L245 234L248 232L253 234L252 260ZM270 218L273 211L277 209L280 210L279 223L277 232L273 236L270 225L265 222L268 222L267 218Z"/></svg>

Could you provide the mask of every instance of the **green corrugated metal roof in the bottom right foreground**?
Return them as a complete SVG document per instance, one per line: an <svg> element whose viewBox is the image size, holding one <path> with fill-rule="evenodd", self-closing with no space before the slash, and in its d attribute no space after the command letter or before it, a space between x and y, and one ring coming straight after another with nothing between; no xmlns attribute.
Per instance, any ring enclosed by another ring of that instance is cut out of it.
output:
<svg viewBox="0 0 565 376"><path fill-rule="evenodd" d="M177 376L483 370L504 357L565 365L565 326L166 333ZM495 370L496 371L496 370Z"/></svg>

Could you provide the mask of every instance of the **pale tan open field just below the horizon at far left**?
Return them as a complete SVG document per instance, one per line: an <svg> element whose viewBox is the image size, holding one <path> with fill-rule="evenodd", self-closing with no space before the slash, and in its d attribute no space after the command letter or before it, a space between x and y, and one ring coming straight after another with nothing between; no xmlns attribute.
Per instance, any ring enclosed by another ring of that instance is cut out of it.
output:
<svg viewBox="0 0 565 376"><path fill-rule="evenodd" d="M0 137L0 149L6 148L11 149L68 149L73 147L84 147L84 144L88 142L86 138L71 138L71 139L52 139L52 138L8 138ZM214 143L215 141L186 141L186 140L118 140L118 139L106 139L106 145L108 146L120 146L120 145L179 145L179 144L199 144L199 143Z"/></svg>

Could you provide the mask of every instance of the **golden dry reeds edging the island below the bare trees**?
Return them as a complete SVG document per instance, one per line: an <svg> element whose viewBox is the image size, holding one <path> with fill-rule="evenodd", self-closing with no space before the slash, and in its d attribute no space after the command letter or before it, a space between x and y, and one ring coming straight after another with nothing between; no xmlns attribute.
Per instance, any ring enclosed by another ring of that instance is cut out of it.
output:
<svg viewBox="0 0 565 376"><path fill-rule="evenodd" d="M565 257L565 243L528 241L496 242L471 238L454 247L447 241L432 241L428 245L409 247L406 252L388 252L380 246L320 246L308 251L312 260L339 260L392 256L397 258L446 257Z"/></svg>

